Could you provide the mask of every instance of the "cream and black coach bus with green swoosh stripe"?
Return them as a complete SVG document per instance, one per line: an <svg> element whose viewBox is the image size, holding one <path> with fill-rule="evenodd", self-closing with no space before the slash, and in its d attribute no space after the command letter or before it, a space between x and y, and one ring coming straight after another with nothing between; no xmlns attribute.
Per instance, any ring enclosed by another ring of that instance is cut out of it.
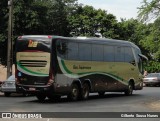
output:
<svg viewBox="0 0 160 121"><path fill-rule="evenodd" d="M16 41L17 92L39 101L73 101L89 93L124 92L143 88L143 61L135 44L107 38L25 35Z"/></svg>

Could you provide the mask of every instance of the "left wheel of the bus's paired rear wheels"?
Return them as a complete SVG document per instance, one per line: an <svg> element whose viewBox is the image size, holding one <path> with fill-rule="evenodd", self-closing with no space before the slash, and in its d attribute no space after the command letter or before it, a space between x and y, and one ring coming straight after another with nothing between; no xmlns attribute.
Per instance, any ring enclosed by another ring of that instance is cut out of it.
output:
<svg viewBox="0 0 160 121"><path fill-rule="evenodd" d="M79 99L79 93L80 93L80 90L78 85L76 83L73 83L71 86L71 93L68 95L68 98L71 101L77 101Z"/></svg>

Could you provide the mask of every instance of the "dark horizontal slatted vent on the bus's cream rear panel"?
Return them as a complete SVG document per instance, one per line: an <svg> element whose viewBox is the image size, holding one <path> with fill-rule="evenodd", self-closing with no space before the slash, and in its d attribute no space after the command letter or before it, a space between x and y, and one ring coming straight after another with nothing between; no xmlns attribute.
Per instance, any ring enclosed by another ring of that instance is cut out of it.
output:
<svg viewBox="0 0 160 121"><path fill-rule="evenodd" d="M47 61L43 60L20 60L20 66L26 67L45 67L47 65Z"/></svg>

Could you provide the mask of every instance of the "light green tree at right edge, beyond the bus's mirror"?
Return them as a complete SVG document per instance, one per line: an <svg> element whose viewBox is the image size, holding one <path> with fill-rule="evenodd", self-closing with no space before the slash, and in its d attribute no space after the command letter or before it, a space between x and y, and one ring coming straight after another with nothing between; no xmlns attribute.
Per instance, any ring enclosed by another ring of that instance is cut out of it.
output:
<svg viewBox="0 0 160 121"><path fill-rule="evenodd" d="M149 72L160 71L160 2L159 0L143 0L143 5L139 8L139 20L148 22L155 20L154 23L147 25L145 36L140 40L141 46L147 50L149 63L145 65Z"/></svg>

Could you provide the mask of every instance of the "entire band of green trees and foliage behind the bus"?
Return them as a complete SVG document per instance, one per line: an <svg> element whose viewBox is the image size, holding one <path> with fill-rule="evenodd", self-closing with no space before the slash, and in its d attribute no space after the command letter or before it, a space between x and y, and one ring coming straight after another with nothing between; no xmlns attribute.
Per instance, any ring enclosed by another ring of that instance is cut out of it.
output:
<svg viewBox="0 0 160 121"><path fill-rule="evenodd" d="M15 1L15 0L14 0ZM0 1L0 63L6 64L8 7ZM139 11L141 20L159 16L159 2L143 1ZM156 13L158 12L158 13ZM83 6L77 0L18 0L13 9L13 37L26 34L95 36L99 32L106 38L122 39L138 45L147 55L149 72L160 71L160 19L152 24L143 24L136 19L121 19L92 6Z"/></svg>

